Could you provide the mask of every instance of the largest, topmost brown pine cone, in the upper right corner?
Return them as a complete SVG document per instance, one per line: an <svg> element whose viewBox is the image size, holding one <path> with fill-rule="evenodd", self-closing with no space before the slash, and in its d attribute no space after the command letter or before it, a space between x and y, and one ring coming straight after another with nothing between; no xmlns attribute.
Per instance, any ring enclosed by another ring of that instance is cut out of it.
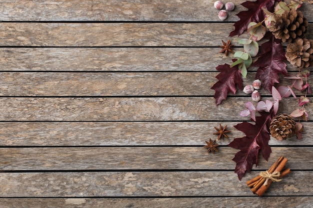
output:
<svg viewBox="0 0 313 208"><path fill-rule="evenodd" d="M282 42L292 42L298 37L304 37L307 26L307 19L303 17L302 12L292 8L289 12L285 11L281 15L275 15L275 21L271 21L268 29L275 38L281 39Z"/></svg>

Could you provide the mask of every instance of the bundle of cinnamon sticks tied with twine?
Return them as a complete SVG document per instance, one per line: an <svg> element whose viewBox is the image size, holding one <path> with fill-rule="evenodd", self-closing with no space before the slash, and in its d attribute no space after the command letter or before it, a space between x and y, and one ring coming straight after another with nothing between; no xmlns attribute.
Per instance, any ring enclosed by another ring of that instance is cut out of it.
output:
<svg viewBox="0 0 313 208"><path fill-rule="evenodd" d="M280 158L266 171L261 172L260 175L246 182L253 194L259 197L264 194L273 181L279 182L282 177L290 173L290 169L285 169L287 159L280 156Z"/></svg>

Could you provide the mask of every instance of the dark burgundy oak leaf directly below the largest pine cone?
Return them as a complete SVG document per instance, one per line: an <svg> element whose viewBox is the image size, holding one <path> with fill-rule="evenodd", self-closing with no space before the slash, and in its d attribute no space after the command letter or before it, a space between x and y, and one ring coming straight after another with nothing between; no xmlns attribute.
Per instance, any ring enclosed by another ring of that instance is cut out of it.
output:
<svg viewBox="0 0 313 208"><path fill-rule="evenodd" d="M285 50L280 44L280 40L276 39L270 32L266 37L269 38L264 42L258 51L258 58L251 66L258 66L255 79L262 81L265 90L271 92L272 86L279 83L278 74L287 75Z"/></svg>

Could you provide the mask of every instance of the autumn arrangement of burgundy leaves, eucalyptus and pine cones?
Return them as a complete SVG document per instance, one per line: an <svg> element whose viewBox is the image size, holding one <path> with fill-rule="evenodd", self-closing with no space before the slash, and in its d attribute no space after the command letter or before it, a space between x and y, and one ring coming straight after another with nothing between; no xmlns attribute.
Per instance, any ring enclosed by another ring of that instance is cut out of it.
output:
<svg viewBox="0 0 313 208"><path fill-rule="evenodd" d="M254 124L242 122L234 126L245 134L228 145L240 150L232 159L236 163L235 172L239 180L245 172L250 172L253 164L257 166L259 154L268 160L271 153L268 145L270 135L277 140L285 140L293 135L301 139L303 126L300 121L308 119L305 105L309 102L307 95L312 93L307 81L310 74L308 68L313 66L313 40L305 37L308 22L299 9L303 3L307 3L305 1L313 3L312 0L256 0L241 3L247 10L236 14L240 19L234 23L234 30L229 36L236 36L243 51L234 52L232 63L216 67L220 72L216 76L218 81L212 86L216 106L227 98L229 92L235 94L237 88L243 88L242 82L249 67L257 68L255 80L259 80L263 89L272 96L265 101L245 103L246 109L240 115L250 116ZM240 38L243 33L248 33L249 38ZM222 48L226 50L222 52L232 52L231 46L229 41L223 43ZM286 62L294 70L288 72ZM276 88L279 77L289 79L290 84ZM294 89L303 95L296 97ZM279 101L289 96L295 98L296 109L289 114L277 114ZM216 146L215 143L213 145Z"/></svg>

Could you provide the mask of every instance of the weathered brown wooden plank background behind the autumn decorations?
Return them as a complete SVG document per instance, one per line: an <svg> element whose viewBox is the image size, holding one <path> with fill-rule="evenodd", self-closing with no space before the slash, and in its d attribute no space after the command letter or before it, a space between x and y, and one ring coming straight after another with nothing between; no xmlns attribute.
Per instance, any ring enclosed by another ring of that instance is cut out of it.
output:
<svg viewBox="0 0 313 208"><path fill-rule="evenodd" d="M1 0L0 207L310 207L312 102L302 140L271 138L268 162L242 181L233 172L227 144L243 136L233 125L250 98L216 107L210 88L244 8L233 0L220 21L213 2ZM313 5L301 10L313 38ZM288 98L279 111L296 107ZM230 138L207 154L219 123ZM245 182L280 155L292 173L256 197Z"/></svg>

